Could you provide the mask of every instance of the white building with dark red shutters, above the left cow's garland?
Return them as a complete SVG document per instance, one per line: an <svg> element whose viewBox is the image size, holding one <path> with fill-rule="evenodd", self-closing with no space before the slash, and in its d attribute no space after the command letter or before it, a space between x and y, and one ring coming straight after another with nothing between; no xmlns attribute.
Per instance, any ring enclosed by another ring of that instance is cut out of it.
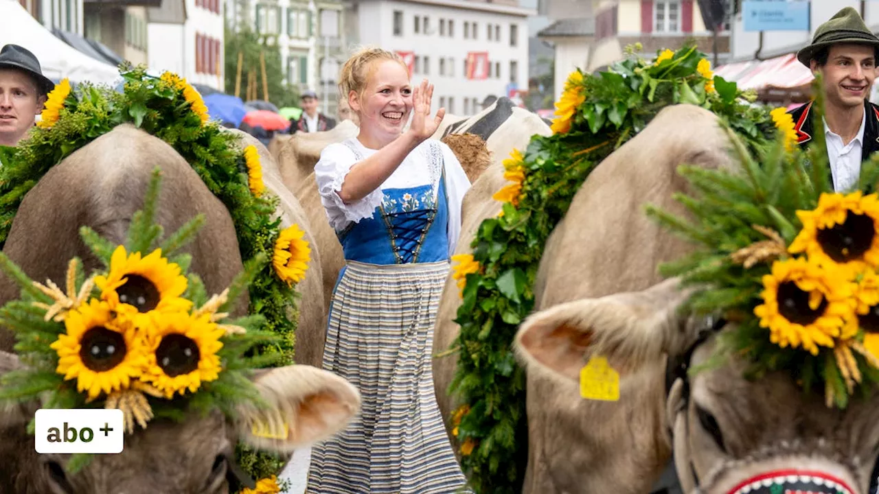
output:
<svg viewBox="0 0 879 494"><path fill-rule="evenodd" d="M150 69L223 91L221 0L163 0L147 16Z"/></svg>

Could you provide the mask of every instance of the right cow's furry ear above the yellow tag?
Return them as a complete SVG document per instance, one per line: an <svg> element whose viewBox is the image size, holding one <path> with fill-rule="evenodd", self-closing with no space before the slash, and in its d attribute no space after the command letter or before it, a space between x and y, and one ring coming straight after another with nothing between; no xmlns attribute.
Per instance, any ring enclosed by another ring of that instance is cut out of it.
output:
<svg viewBox="0 0 879 494"><path fill-rule="evenodd" d="M641 292L570 301L542 310L519 327L516 346L529 367L578 381L592 355L618 370L655 361L686 339L679 305L690 290L665 280Z"/></svg>

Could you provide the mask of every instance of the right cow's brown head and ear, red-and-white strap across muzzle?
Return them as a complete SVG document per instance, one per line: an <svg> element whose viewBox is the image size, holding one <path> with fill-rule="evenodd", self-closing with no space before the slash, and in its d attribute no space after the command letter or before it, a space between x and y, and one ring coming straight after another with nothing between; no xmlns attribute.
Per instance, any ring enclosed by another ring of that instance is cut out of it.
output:
<svg viewBox="0 0 879 494"><path fill-rule="evenodd" d="M529 372L573 381L586 361L604 356L620 374L621 396L636 390L627 389L627 375L657 360L673 362L665 432L685 492L868 492L879 454L879 396L839 410L821 394L804 393L801 376L749 380L745 362L735 358L695 369L732 323L683 312L686 297L672 279L642 292L571 301L527 319L516 345Z"/></svg>

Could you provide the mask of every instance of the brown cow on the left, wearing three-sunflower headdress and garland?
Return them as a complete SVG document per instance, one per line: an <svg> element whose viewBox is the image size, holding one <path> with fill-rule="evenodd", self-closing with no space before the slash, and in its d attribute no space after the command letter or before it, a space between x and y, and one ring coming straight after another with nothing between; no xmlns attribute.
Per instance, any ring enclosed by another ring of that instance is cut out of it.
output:
<svg viewBox="0 0 879 494"><path fill-rule="evenodd" d="M116 127L47 172L25 195L4 253L34 280L49 278L61 286L69 258L82 258L87 272L98 268L77 230L87 225L113 243L124 243L132 214L142 207L156 166L163 172L156 222L167 234L195 214L206 215L205 227L185 251L192 254L191 270L204 280L207 292L220 293L243 268L228 211L174 149L127 125ZM17 297L18 288L5 278L0 280L0 304ZM5 349L10 343L8 338L4 341ZM0 352L0 373L20 365L15 355ZM4 439L0 492L226 493L239 440L289 454L338 432L360 406L357 389L315 367L261 370L254 382L267 409L242 403L236 420L223 418L219 411L207 416L189 414L180 423L156 418L146 429L126 437L121 454L98 454L76 474L65 472L69 455L35 452L33 435L26 432L26 426L40 403L7 406L0 410L0 437ZM258 418L286 421L290 434L283 440L254 436L251 425Z"/></svg>

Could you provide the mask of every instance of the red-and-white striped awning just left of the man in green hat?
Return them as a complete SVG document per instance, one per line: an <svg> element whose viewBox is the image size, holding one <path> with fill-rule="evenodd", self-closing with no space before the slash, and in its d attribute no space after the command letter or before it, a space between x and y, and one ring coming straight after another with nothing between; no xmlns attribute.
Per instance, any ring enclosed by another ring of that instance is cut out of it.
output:
<svg viewBox="0 0 879 494"><path fill-rule="evenodd" d="M730 63L718 67L715 74L735 81L740 89L755 91L801 89L815 78L809 68L796 60L795 54L764 61Z"/></svg>

